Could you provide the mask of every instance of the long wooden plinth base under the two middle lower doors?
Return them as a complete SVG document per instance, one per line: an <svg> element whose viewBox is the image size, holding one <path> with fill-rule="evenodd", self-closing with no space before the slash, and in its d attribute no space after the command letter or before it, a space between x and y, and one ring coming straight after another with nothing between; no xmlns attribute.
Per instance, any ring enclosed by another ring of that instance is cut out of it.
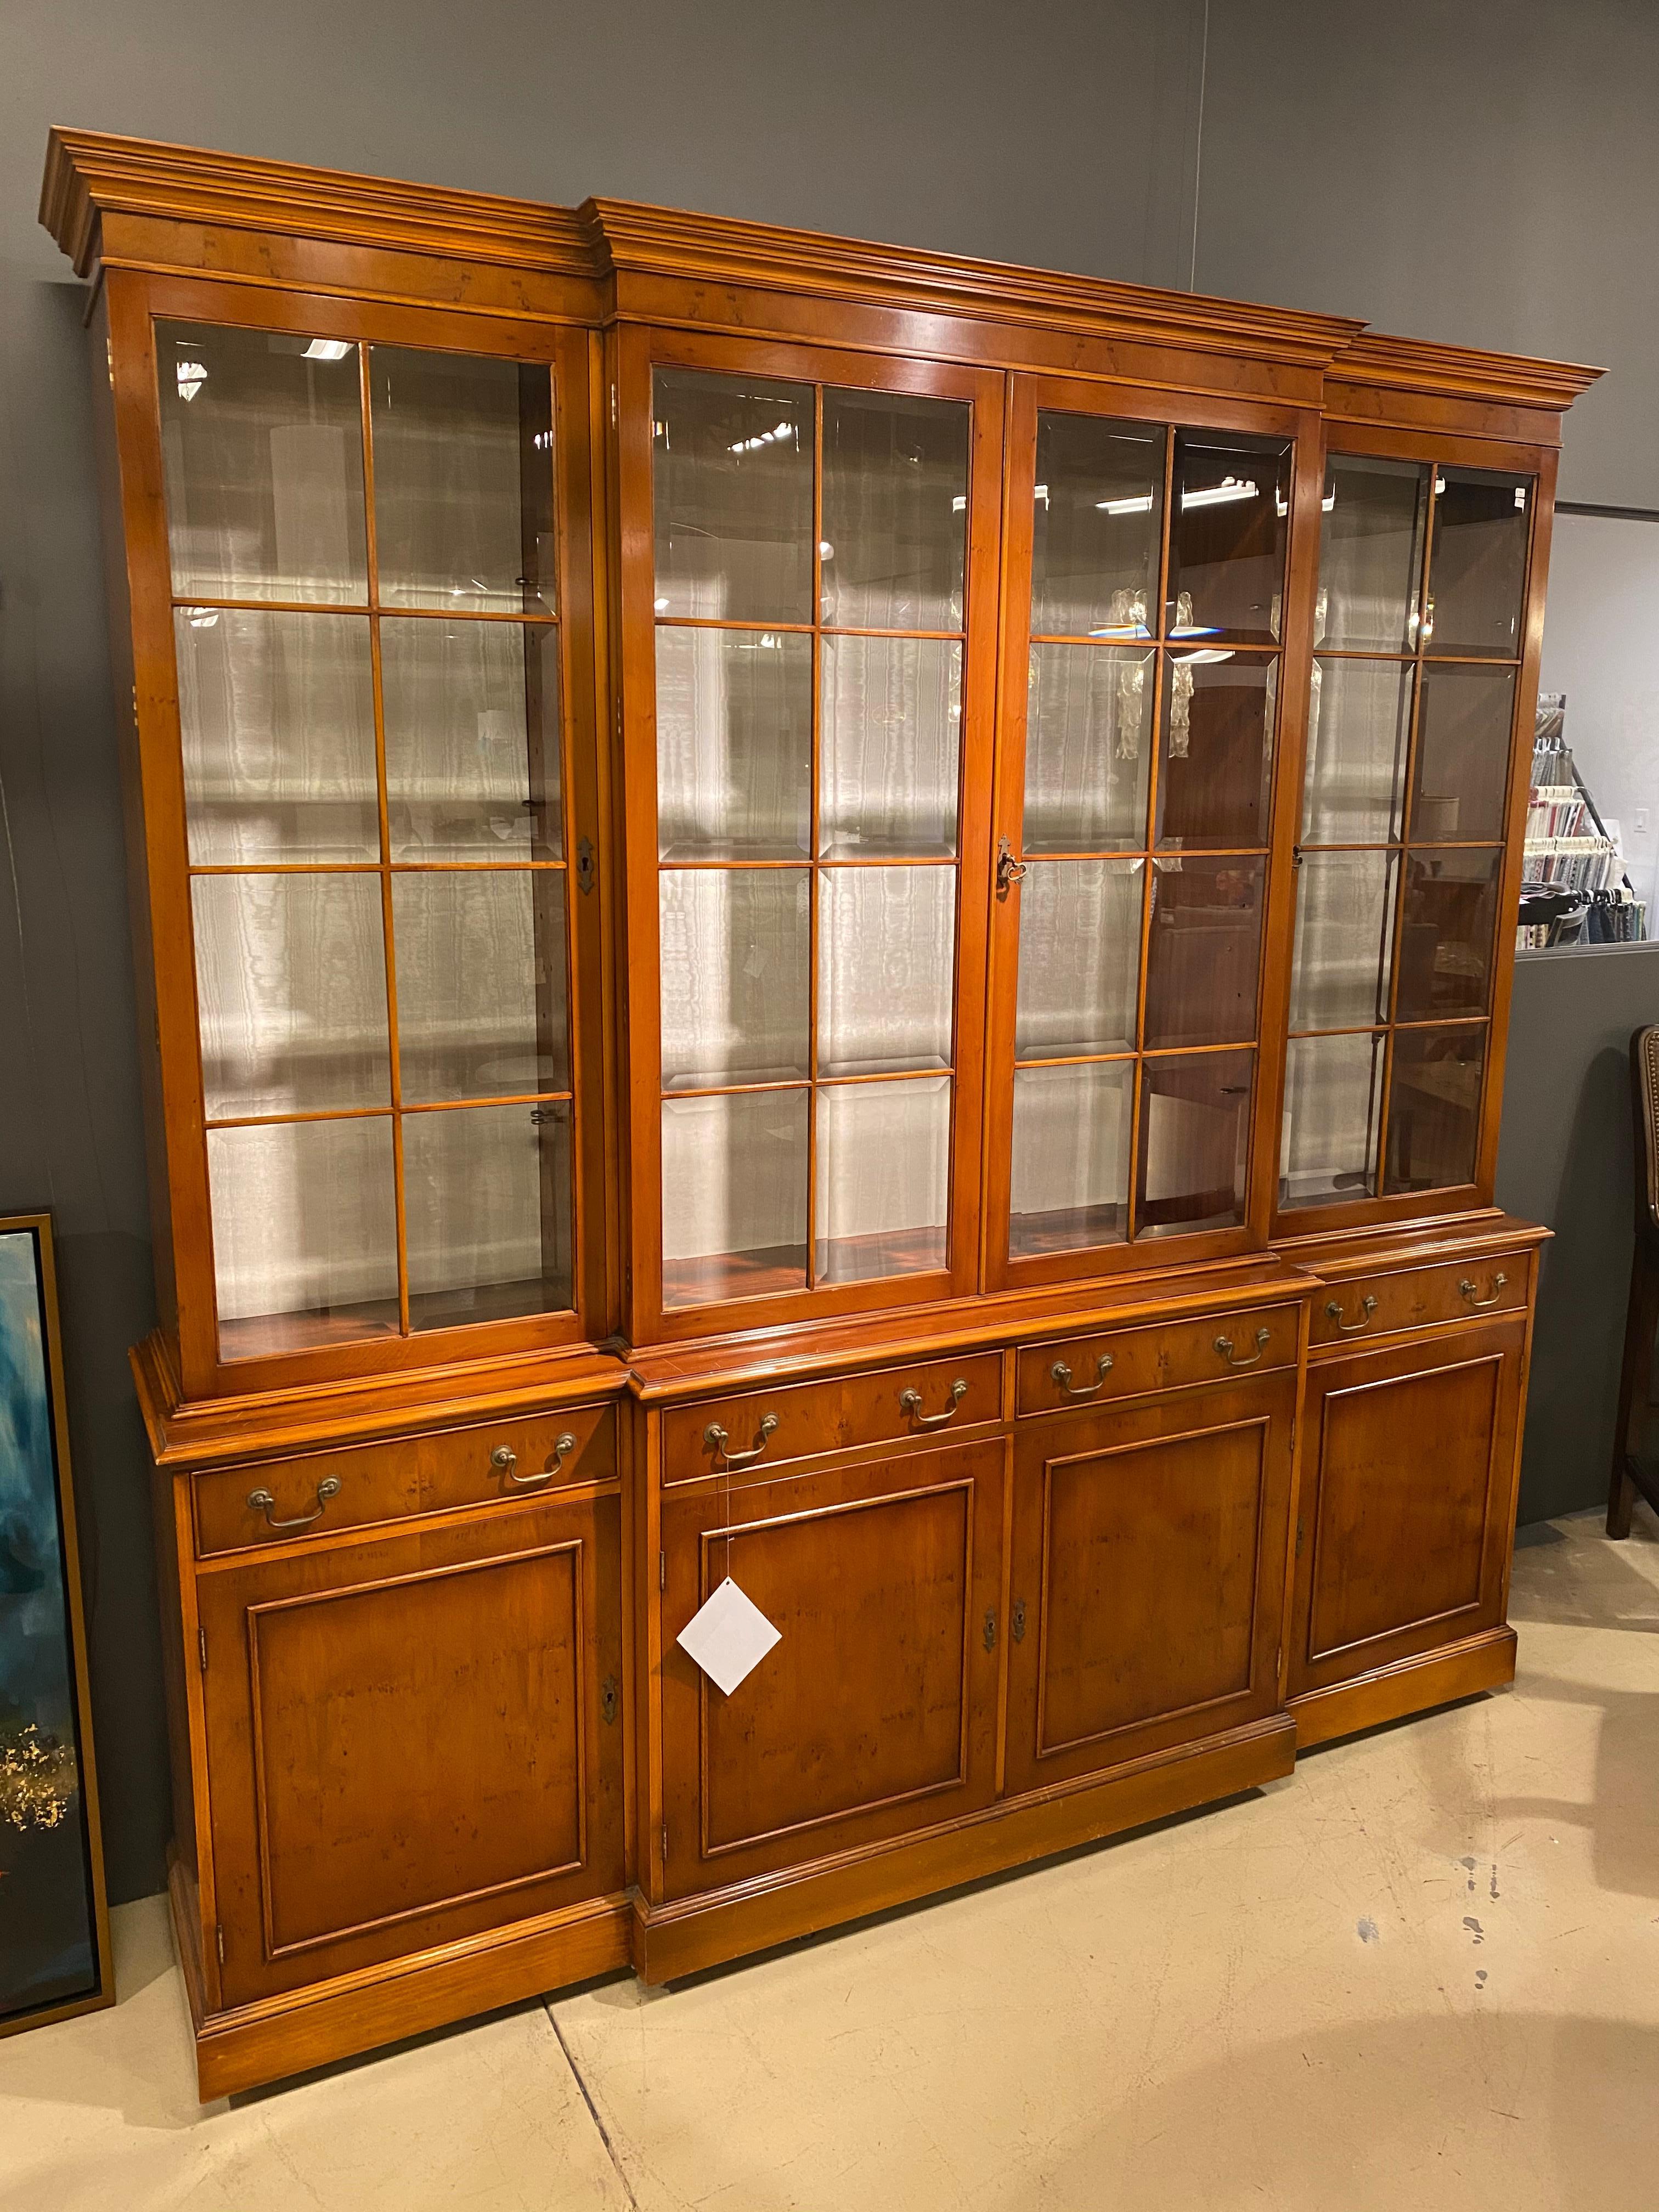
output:
<svg viewBox="0 0 1659 2212"><path fill-rule="evenodd" d="M701 1973L1079 1843L1097 1843L1148 1820L1237 1796L1279 1781L1294 1763L1296 1730L1281 1712L1225 1736L1119 1767L1093 1783L1004 1801L925 1836L872 1845L672 1905L648 1905L635 1893L635 1971L644 1982Z"/></svg>

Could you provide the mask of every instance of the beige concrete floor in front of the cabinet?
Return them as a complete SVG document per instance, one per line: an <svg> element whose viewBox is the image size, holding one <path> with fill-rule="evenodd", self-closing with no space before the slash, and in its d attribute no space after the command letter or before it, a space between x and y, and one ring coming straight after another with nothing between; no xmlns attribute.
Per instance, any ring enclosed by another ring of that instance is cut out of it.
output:
<svg viewBox="0 0 1659 2212"><path fill-rule="evenodd" d="M1659 1533L1528 1531L1511 1692L670 1993L201 2110L159 1900L0 2044L4 2212L1650 2212Z"/></svg>

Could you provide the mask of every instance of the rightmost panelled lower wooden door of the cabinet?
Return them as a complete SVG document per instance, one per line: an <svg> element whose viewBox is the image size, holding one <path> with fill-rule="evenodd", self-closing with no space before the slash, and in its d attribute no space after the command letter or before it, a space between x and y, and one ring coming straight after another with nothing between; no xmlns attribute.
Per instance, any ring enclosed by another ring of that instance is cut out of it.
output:
<svg viewBox="0 0 1659 2212"><path fill-rule="evenodd" d="M1290 1697L1495 1628L1524 1323L1314 1367Z"/></svg>

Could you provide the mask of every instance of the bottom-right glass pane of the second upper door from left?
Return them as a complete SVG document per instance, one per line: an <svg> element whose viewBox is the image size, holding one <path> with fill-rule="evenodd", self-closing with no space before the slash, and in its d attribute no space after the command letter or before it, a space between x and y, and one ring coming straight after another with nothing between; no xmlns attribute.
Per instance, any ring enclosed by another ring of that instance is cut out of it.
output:
<svg viewBox="0 0 1659 2212"><path fill-rule="evenodd" d="M942 1267L949 1245L951 1077L818 1091L821 1283Z"/></svg>

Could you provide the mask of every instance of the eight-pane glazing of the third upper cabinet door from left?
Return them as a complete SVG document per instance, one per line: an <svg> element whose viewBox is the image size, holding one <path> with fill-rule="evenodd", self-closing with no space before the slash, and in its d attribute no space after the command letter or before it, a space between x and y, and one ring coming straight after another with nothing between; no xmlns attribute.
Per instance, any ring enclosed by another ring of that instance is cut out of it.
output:
<svg viewBox="0 0 1659 2212"><path fill-rule="evenodd" d="M1245 1217L1290 469L1035 409L1013 1263Z"/></svg>

